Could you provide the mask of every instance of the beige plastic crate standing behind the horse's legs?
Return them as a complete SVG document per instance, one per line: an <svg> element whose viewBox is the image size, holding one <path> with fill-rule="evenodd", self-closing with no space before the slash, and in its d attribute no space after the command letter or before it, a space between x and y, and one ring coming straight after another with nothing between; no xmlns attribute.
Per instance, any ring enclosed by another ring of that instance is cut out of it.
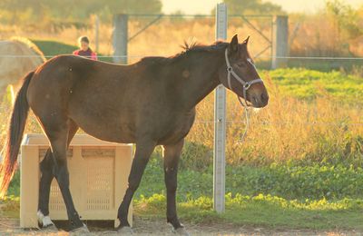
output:
<svg viewBox="0 0 363 236"><path fill-rule="evenodd" d="M44 134L26 134L22 143L20 227L38 226L39 162L49 147ZM127 188L132 164L132 144L107 143L89 135L75 135L68 150L70 189L82 220L115 221ZM54 179L51 186L50 217L67 220L62 193ZM132 204L128 215L132 224Z"/></svg>

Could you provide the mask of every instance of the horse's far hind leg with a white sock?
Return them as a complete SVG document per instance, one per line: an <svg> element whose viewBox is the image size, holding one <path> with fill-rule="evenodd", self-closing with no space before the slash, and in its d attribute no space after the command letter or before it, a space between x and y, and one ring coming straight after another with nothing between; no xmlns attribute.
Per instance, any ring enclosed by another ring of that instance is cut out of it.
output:
<svg viewBox="0 0 363 236"><path fill-rule="evenodd" d="M75 123L70 123L68 132L68 145L74 138L75 133L78 130L78 126ZM49 148L45 153L43 161L40 163L40 170L42 176L39 183L39 202L38 202L38 220L43 228L53 228L54 223L49 217L49 194L51 184L54 178L54 159L52 158L52 151Z"/></svg>

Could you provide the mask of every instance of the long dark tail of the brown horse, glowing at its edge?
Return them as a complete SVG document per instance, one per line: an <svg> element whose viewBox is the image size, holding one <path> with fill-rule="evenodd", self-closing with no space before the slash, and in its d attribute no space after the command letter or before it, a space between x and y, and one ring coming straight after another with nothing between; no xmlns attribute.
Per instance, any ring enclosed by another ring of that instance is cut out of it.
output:
<svg viewBox="0 0 363 236"><path fill-rule="evenodd" d="M25 76L24 84L16 95L13 113L11 115L9 130L7 132L3 154L3 162L0 165L0 198L3 198L14 175L17 155L23 139L26 118L29 112L29 104L26 92L34 75L31 72Z"/></svg>

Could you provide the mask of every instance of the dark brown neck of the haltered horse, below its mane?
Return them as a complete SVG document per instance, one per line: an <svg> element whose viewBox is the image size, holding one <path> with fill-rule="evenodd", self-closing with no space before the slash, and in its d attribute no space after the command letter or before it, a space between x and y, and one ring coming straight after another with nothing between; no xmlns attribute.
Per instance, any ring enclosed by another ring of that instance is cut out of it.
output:
<svg viewBox="0 0 363 236"><path fill-rule="evenodd" d="M187 73L190 76L183 80L182 97L186 109L193 108L221 84L218 75L221 63L221 58L216 58L215 54L208 54L191 64Z"/></svg>

